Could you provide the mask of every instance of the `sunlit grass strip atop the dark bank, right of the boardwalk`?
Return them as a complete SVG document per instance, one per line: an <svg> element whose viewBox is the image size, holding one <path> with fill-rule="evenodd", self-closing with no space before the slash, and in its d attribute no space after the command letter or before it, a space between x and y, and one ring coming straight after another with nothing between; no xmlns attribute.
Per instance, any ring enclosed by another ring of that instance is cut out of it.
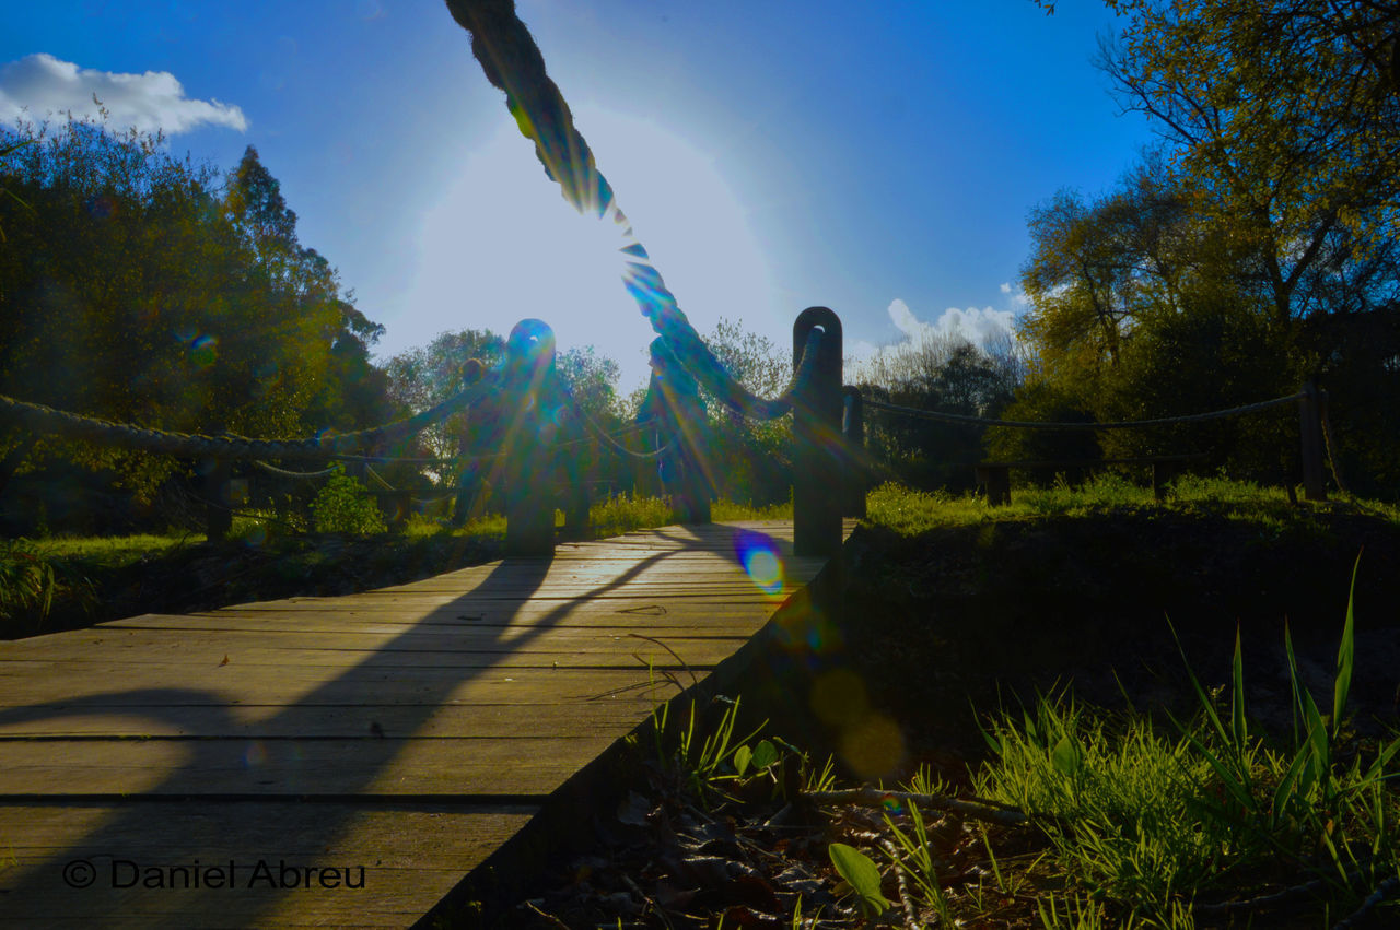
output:
<svg viewBox="0 0 1400 930"><path fill-rule="evenodd" d="M1169 485L1163 501L1152 489L1105 471L1078 487L1057 480L1047 488L1015 488L1012 502L988 506L977 494L913 491L883 484L867 498L867 520L903 536L953 526L1028 520L1046 516L1086 516L1110 512L1219 513L1231 519L1278 530L1308 520L1319 512L1357 510L1400 524L1400 506L1340 496L1334 501L1295 505L1284 488L1266 488L1250 481L1221 477L1183 475Z"/></svg>

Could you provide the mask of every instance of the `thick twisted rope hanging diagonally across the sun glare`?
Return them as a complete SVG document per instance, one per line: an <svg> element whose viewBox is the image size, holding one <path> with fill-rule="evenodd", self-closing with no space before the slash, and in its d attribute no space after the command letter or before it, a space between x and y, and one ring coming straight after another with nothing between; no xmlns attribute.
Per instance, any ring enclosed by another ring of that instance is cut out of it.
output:
<svg viewBox="0 0 1400 930"><path fill-rule="evenodd" d="M594 152L574 126L574 116L559 85L545 69L545 56L515 13L514 0L447 0L458 25L472 34L472 55L486 80L505 92L505 105L545 172L559 183L564 199L580 213L612 220L622 229L629 256L623 284L652 330L666 340L676 359L714 397L748 415L780 417L767 401L741 385L680 312L675 295L637 241L627 215L617 207L612 185L598 171ZM781 399L780 399L781 401ZM750 411L766 411L750 414Z"/></svg>

